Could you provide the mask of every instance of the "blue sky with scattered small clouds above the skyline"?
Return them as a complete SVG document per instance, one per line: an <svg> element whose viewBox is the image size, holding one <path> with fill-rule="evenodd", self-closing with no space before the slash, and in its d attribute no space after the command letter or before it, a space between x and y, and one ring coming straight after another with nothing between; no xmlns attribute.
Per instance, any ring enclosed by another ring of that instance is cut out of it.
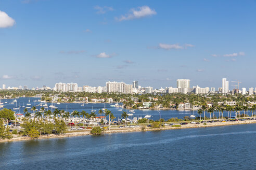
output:
<svg viewBox="0 0 256 170"><path fill-rule="evenodd" d="M0 84L255 88L255 19L256 1L0 0Z"/></svg>

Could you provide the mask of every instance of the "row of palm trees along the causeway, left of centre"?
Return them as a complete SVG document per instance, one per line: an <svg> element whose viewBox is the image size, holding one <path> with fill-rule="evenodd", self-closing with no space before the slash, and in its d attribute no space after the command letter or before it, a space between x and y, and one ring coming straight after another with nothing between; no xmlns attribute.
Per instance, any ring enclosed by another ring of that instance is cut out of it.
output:
<svg viewBox="0 0 256 170"><path fill-rule="evenodd" d="M75 118L75 126L76 126L76 118L80 118L82 117L83 118L83 125L84 125L84 118L86 119L91 119L91 120L95 120L95 118L97 117L97 115L95 114L95 112L91 112L91 114L87 113L86 111L82 110L81 112L77 111L77 110L74 110L71 114L70 112L66 112L65 110L58 110L57 108L52 112L51 110L45 110L44 107L42 107L39 111L36 111L36 107L33 106L31 108L31 111L33 111L34 113L34 119L37 118L37 120L39 121L40 118L43 119L50 119L51 116L53 115L53 117L55 118L58 118L58 119L65 119L66 123L67 123L67 119L69 119L70 117L74 117ZM29 110L27 108L25 108L23 110L23 112L25 113L25 118L32 118L32 115L31 115L31 112L29 112ZM98 114L101 116L101 115L105 115L105 118L106 117L109 117L109 130L110 130L110 124L111 124L111 121L113 119L115 119L116 117L114 117L114 115L112 114L112 112L110 110L107 110L107 109L99 109L98 111ZM127 118L128 115L127 113L124 111L122 116L122 118ZM111 121L110 121L111 120ZM104 120L101 119L100 123L104 125Z"/></svg>

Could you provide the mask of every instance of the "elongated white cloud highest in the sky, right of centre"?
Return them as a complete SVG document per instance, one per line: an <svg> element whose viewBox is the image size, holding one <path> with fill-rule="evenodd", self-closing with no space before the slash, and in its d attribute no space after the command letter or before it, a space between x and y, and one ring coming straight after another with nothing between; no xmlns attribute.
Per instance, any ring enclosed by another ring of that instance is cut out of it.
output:
<svg viewBox="0 0 256 170"><path fill-rule="evenodd" d="M156 15L157 12L154 9L150 9L148 6L137 7L137 9L133 8L130 10L130 13L122 15L119 18L116 18L117 21L123 20L133 20L138 18L143 18L147 16Z"/></svg>

